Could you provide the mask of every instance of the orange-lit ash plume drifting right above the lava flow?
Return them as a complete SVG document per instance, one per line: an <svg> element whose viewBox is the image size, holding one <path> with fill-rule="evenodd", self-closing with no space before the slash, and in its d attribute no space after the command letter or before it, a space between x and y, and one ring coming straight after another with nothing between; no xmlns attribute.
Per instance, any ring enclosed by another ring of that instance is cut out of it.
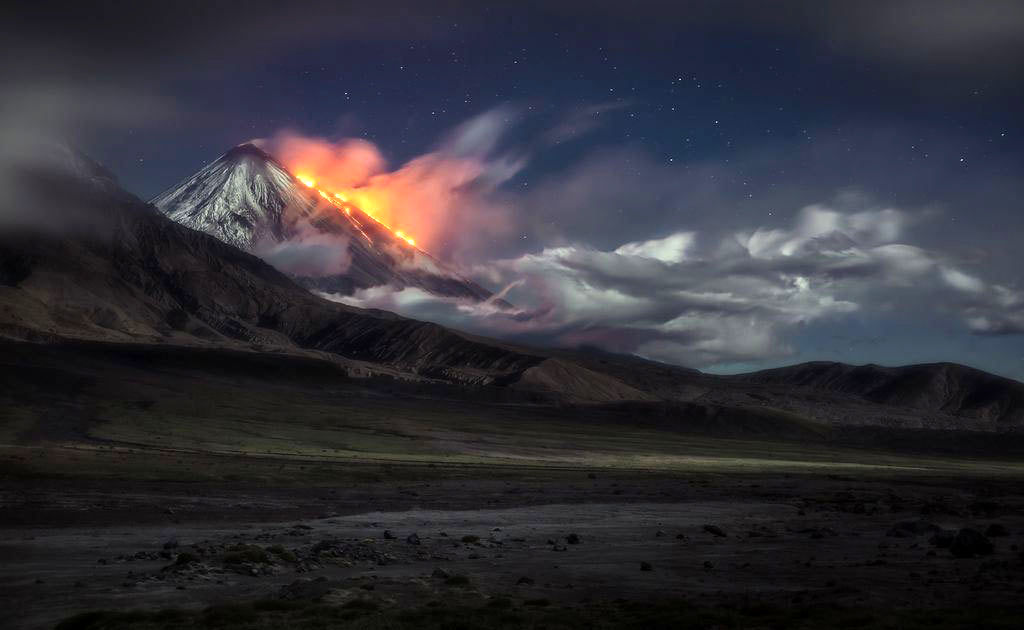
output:
<svg viewBox="0 0 1024 630"><path fill-rule="evenodd" d="M439 258L458 261L479 256L513 226L512 207L499 190L527 161L501 150L517 117L512 107L484 112L393 170L377 146L361 139L283 131L260 143L292 172L343 194Z"/></svg>

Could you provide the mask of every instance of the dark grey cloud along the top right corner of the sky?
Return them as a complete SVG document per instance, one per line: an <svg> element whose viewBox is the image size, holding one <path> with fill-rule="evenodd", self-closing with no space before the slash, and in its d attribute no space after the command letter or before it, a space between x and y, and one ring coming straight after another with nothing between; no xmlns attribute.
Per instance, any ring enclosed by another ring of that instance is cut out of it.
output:
<svg viewBox="0 0 1024 630"><path fill-rule="evenodd" d="M541 4L541 3L538 3ZM634 45L685 30L739 28L809 37L837 53L910 72L1020 76L1024 4L1018 0L657 0L545 3L546 10L595 16L607 29L643 26ZM624 36L625 37L625 36Z"/></svg>

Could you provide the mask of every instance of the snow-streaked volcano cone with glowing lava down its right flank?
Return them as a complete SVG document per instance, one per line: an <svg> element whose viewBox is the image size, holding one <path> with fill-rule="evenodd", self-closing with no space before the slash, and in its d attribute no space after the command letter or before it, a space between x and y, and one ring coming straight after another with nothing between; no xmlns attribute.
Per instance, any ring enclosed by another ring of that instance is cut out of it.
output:
<svg viewBox="0 0 1024 630"><path fill-rule="evenodd" d="M474 301L492 297L355 204L304 183L250 142L151 203L182 225L263 258L312 291L350 295L388 285Z"/></svg>

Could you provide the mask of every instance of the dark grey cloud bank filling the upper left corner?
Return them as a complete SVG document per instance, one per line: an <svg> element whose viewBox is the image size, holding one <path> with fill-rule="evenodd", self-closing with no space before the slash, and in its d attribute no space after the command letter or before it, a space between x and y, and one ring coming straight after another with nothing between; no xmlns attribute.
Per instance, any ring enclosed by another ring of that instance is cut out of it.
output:
<svg viewBox="0 0 1024 630"><path fill-rule="evenodd" d="M407 2L18 2L0 8L0 183L54 143L208 118L174 89L318 39L429 38L452 11ZM0 212L12 215L15 197Z"/></svg>

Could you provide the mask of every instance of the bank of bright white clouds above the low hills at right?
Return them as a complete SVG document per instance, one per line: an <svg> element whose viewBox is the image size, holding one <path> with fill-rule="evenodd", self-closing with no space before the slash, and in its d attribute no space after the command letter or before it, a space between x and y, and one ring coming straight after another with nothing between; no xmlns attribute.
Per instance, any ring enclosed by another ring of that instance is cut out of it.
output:
<svg viewBox="0 0 1024 630"><path fill-rule="evenodd" d="M948 303L947 314L967 330L1024 331L1024 294L896 242L909 219L892 208L818 204L790 225L677 232L606 250L563 244L469 271L507 286L512 310L408 289L339 299L479 334L595 344L701 368L784 358L806 325L932 303L926 297Z"/></svg>

